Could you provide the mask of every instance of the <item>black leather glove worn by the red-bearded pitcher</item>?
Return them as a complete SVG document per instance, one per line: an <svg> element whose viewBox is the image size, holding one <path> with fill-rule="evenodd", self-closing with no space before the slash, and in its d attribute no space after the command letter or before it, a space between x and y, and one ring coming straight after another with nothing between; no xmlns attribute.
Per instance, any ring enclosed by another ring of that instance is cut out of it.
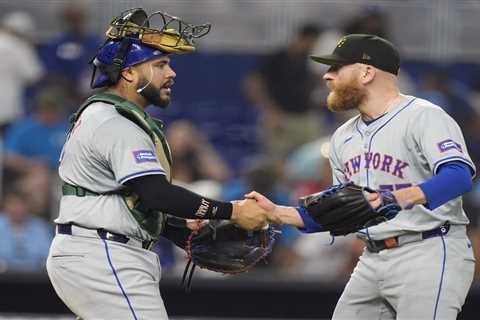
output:
<svg viewBox="0 0 480 320"><path fill-rule="evenodd" d="M365 192L379 192L382 204L374 209ZM353 182L300 198L300 206L334 236L347 235L393 219L402 210L393 194L374 191Z"/></svg>

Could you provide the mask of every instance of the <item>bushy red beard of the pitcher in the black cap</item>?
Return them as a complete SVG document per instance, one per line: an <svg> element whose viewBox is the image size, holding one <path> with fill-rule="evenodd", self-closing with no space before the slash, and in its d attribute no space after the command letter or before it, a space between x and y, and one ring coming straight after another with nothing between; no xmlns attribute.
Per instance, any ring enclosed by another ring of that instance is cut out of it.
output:
<svg viewBox="0 0 480 320"><path fill-rule="evenodd" d="M339 112L358 108L366 97L363 89L355 77L348 81L329 81L330 93L327 97L327 107L330 111Z"/></svg>

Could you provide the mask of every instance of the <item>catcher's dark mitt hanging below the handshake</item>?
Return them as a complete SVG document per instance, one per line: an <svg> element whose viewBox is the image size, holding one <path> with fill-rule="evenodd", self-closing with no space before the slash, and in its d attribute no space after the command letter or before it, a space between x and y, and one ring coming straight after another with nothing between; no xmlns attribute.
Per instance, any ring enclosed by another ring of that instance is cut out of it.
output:
<svg viewBox="0 0 480 320"><path fill-rule="evenodd" d="M231 221L211 221L187 240L185 251L190 261L182 283L188 291L195 266L225 274L247 271L272 251L276 232L272 226L247 231ZM185 282L190 263L193 267Z"/></svg>

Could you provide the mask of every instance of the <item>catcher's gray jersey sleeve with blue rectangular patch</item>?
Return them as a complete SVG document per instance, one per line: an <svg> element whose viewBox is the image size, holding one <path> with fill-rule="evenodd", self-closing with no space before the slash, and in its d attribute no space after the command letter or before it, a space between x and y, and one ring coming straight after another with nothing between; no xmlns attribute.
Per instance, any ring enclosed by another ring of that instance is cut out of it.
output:
<svg viewBox="0 0 480 320"><path fill-rule="evenodd" d="M126 181L150 174L165 174L155 145L141 128L121 118L111 119L96 131L96 151L112 170L115 180Z"/></svg>

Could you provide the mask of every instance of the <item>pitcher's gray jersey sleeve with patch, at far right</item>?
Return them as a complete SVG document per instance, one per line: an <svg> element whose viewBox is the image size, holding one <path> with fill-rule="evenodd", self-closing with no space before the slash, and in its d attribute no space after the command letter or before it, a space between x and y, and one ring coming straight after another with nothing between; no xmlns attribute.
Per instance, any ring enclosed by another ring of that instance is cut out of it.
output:
<svg viewBox="0 0 480 320"><path fill-rule="evenodd" d="M472 176L475 175L475 165L468 154L462 130L442 109L425 107L415 119L413 135L433 174L447 162L460 161L469 166Z"/></svg>

